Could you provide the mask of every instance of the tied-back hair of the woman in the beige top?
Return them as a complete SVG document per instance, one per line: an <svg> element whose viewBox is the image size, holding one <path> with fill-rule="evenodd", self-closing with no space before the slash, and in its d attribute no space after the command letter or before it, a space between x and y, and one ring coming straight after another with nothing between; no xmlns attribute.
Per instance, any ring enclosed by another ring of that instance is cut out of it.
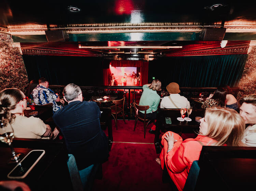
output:
<svg viewBox="0 0 256 191"><path fill-rule="evenodd" d="M15 118L10 110L15 109L17 103L24 98L24 94L17 88L7 88L0 91L0 120L9 123Z"/></svg>

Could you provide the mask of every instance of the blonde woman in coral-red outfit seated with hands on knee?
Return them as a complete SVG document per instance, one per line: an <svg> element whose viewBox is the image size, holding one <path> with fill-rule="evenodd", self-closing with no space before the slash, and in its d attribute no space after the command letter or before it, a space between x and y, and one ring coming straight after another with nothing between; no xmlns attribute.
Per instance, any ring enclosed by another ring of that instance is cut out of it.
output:
<svg viewBox="0 0 256 191"><path fill-rule="evenodd" d="M202 146L245 146L242 143L245 123L241 116L230 108L208 108L200 119L199 134L195 139L182 138L172 132L162 136L163 149L160 159L162 169L167 171L178 190L183 190L190 167L198 160Z"/></svg>

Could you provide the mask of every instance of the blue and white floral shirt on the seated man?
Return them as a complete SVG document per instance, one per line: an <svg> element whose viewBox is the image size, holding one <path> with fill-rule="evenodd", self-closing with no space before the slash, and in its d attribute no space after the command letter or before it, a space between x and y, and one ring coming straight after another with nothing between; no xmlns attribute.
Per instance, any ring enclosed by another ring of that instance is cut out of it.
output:
<svg viewBox="0 0 256 191"><path fill-rule="evenodd" d="M42 85L37 85L37 87L32 91L32 95L34 103L37 105L53 103L53 112L61 109L61 106L55 102L58 96L54 93L53 90L49 88L46 88Z"/></svg>

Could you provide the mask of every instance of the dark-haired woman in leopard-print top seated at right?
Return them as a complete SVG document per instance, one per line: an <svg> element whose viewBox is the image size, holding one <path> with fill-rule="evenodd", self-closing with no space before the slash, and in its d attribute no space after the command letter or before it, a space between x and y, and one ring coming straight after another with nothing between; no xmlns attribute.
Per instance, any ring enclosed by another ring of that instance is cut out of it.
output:
<svg viewBox="0 0 256 191"><path fill-rule="evenodd" d="M213 97L205 100L202 104L202 108L211 108L211 107L225 107L227 91L223 88L218 88L215 90Z"/></svg>

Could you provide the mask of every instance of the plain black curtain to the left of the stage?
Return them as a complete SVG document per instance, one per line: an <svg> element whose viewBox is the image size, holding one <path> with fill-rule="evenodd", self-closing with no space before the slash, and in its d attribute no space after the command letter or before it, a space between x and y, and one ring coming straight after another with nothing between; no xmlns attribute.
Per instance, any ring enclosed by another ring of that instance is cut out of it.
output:
<svg viewBox="0 0 256 191"><path fill-rule="evenodd" d="M46 77L50 85L103 85L100 57L23 55L29 81Z"/></svg>

